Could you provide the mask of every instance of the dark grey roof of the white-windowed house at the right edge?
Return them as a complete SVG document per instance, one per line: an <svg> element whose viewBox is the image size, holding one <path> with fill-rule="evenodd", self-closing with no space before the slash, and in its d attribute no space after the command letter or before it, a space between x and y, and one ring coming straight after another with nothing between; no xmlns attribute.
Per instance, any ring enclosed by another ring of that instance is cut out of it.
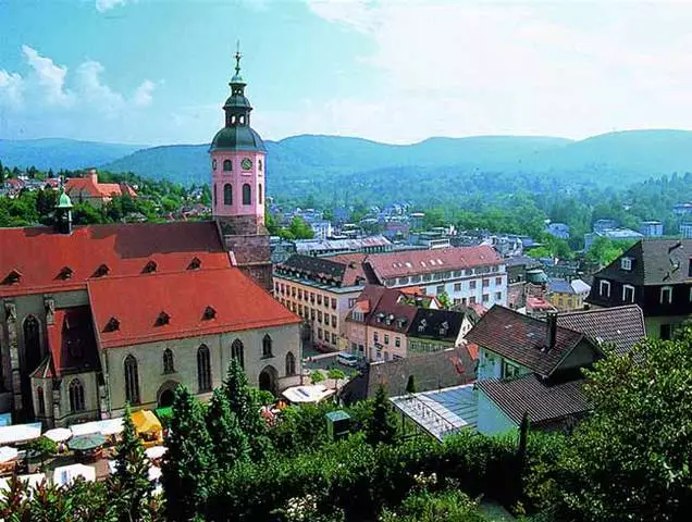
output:
<svg viewBox="0 0 692 522"><path fill-rule="evenodd" d="M632 259L632 270L620 268L620 260L625 257ZM690 283L690 259L692 239L644 239L630 247L595 276L633 286Z"/></svg>

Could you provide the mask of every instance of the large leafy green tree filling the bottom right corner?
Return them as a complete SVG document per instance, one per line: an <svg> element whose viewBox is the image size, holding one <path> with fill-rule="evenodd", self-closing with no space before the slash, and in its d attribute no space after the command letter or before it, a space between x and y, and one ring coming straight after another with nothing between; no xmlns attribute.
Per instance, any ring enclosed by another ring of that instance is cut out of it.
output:
<svg viewBox="0 0 692 522"><path fill-rule="evenodd" d="M558 461L559 520L674 521L692 507L692 330L588 372L593 414Z"/></svg>

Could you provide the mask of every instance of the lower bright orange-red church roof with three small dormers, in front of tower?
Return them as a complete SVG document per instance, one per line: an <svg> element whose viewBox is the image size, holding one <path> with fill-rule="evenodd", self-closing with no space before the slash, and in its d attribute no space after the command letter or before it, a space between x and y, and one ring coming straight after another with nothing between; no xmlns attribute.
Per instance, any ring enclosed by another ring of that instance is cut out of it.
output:
<svg viewBox="0 0 692 522"><path fill-rule="evenodd" d="M88 290L101 348L300 322L236 268L103 277Z"/></svg>

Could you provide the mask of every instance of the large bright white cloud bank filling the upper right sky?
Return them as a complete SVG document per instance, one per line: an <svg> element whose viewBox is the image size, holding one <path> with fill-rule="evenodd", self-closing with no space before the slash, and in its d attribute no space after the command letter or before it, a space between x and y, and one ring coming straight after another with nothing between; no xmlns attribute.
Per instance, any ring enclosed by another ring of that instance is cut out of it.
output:
<svg viewBox="0 0 692 522"><path fill-rule="evenodd" d="M692 122L689 3L308 4L371 40L358 60L379 82L376 95L363 90L313 108L313 133L407 142L432 135L585 137ZM274 134L276 124L268 123Z"/></svg>

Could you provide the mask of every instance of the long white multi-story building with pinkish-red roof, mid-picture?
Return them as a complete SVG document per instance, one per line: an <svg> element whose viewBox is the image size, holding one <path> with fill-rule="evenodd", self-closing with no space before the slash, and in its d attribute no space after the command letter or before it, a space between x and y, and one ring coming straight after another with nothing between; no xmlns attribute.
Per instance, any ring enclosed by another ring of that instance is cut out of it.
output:
<svg viewBox="0 0 692 522"><path fill-rule="evenodd" d="M489 246L369 256L366 266L388 288L446 295L455 304L507 304L506 263Z"/></svg>

